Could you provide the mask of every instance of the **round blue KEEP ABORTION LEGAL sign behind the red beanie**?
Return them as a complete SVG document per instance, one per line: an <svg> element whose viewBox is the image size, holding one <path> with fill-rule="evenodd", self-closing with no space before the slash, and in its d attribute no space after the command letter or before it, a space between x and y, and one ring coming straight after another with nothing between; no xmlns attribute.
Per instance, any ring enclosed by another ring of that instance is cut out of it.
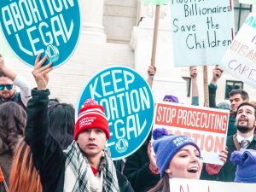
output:
<svg viewBox="0 0 256 192"><path fill-rule="evenodd" d="M85 85L76 113L88 98L101 104L108 119L107 148L113 160L134 153L147 139L154 118L154 101L148 83L128 67L109 67Z"/></svg>

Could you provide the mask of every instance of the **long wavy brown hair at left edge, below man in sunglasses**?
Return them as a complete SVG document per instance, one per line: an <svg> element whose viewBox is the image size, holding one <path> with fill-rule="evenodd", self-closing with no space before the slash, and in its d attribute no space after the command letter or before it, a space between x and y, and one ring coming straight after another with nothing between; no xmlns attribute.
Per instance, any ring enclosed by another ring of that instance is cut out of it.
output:
<svg viewBox="0 0 256 192"><path fill-rule="evenodd" d="M0 154L14 152L18 139L24 137L26 112L15 102L5 102L0 105Z"/></svg>

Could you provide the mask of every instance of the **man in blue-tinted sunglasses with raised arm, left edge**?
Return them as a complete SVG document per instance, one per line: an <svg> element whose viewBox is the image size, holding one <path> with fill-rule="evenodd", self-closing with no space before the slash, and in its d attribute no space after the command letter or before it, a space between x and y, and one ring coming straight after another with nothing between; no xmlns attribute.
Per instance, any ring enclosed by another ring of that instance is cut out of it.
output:
<svg viewBox="0 0 256 192"><path fill-rule="evenodd" d="M20 92L15 90L15 86L20 88ZM30 95L30 85L20 75L4 65L3 56L0 54L0 104L17 102L26 109Z"/></svg>

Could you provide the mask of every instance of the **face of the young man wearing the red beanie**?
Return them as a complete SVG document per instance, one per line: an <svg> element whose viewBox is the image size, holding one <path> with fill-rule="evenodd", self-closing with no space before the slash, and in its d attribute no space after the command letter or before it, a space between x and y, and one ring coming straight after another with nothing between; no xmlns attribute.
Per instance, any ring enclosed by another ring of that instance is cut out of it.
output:
<svg viewBox="0 0 256 192"><path fill-rule="evenodd" d="M87 157L102 157L102 150L107 143L107 137L101 129L91 128L79 133L77 143Z"/></svg>

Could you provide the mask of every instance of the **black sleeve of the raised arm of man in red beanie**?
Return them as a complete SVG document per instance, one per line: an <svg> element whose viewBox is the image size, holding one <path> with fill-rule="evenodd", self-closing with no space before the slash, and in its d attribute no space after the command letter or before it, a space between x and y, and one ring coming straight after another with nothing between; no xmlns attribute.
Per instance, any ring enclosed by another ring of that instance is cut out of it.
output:
<svg viewBox="0 0 256 192"><path fill-rule="evenodd" d="M49 134L49 90L32 90L27 104L25 141L31 147L44 191L55 191L64 162L59 143Z"/></svg>

